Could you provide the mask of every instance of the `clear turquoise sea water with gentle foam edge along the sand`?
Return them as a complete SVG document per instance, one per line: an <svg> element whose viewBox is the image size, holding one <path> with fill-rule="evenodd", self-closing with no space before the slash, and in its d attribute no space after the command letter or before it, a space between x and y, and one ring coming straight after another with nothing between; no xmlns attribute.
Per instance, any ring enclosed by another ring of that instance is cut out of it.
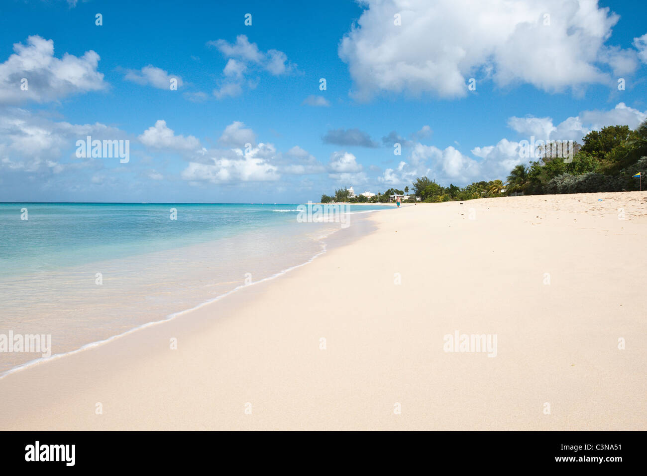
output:
<svg viewBox="0 0 647 476"><path fill-rule="evenodd" d="M297 207L0 203L0 335L51 335L65 354L280 275L340 230ZM351 205L351 226L382 209ZM39 357L0 352L0 375Z"/></svg>

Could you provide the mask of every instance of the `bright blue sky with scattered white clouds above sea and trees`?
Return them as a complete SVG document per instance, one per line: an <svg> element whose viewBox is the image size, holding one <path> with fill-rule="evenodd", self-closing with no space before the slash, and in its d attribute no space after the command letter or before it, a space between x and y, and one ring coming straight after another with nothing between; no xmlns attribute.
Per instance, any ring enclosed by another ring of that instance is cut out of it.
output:
<svg viewBox="0 0 647 476"><path fill-rule="evenodd" d="M466 185L527 163L532 135L581 141L647 117L644 3L0 8L1 201L289 203L423 175ZM87 135L129 141L129 161L77 157Z"/></svg>

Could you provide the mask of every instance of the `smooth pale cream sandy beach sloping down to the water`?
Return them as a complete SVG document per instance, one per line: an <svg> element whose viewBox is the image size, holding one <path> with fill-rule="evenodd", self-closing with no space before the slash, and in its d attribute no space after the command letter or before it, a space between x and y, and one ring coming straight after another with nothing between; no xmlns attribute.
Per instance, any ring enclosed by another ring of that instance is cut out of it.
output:
<svg viewBox="0 0 647 476"><path fill-rule="evenodd" d="M647 192L367 220L282 277L7 375L0 427L647 429ZM455 334L496 349L447 352Z"/></svg>

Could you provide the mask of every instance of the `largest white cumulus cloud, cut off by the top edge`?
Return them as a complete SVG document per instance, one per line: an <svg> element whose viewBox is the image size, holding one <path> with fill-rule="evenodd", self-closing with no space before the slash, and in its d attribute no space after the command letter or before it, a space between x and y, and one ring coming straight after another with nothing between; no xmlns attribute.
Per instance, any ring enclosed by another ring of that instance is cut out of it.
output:
<svg viewBox="0 0 647 476"><path fill-rule="evenodd" d="M619 16L587 0L366 0L338 54L351 94L465 96L470 77L548 92L613 84L632 52L606 47ZM394 25L394 14L401 26ZM545 15L548 14L549 17Z"/></svg>

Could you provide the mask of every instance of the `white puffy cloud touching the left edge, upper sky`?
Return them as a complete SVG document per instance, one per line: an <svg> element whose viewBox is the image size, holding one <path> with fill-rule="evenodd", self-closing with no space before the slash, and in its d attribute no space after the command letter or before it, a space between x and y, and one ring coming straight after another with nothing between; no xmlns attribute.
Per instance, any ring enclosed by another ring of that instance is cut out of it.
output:
<svg viewBox="0 0 647 476"><path fill-rule="evenodd" d="M27 45L14 44L14 54L0 63L0 104L56 101L75 93L105 89L104 75L97 71L99 60L92 50L83 56L65 53L56 58L54 41L29 36ZM27 89L21 87L23 84Z"/></svg>

